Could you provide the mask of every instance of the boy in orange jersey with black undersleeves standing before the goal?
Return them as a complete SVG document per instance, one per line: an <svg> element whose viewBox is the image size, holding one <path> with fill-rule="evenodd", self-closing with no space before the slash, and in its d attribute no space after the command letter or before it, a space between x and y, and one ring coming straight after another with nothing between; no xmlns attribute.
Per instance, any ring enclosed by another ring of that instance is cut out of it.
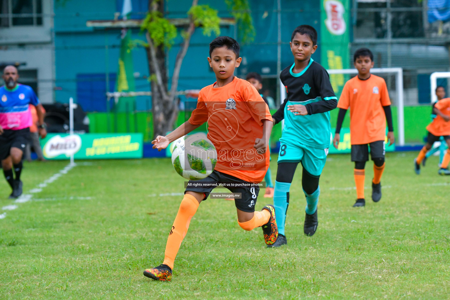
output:
<svg viewBox="0 0 450 300"><path fill-rule="evenodd" d="M333 144L339 145L342 121L350 108L351 161L355 162L356 203L353 207L365 206L364 179L365 163L370 157L374 161L372 179L372 200L381 199L381 175L384 171L386 121L387 139L394 143L391 101L383 78L370 74L374 67L374 55L367 48L356 50L353 61L358 76L347 81L338 102L339 114Z"/></svg>

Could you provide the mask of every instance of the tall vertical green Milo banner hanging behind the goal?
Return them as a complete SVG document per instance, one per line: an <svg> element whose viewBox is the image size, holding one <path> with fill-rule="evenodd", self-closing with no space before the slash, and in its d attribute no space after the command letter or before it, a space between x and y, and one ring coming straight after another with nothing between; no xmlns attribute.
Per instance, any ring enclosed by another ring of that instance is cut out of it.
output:
<svg viewBox="0 0 450 300"><path fill-rule="evenodd" d="M350 4L349 0L321 0L320 13L320 63L325 69L347 69L350 43ZM330 75L334 93L339 96L346 76Z"/></svg>

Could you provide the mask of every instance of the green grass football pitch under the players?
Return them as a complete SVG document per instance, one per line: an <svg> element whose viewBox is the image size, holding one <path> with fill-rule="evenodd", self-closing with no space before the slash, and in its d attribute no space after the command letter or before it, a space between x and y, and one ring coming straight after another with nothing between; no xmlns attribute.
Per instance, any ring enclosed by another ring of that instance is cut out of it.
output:
<svg viewBox="0 0 450 300"><path fill-rule="evenodd" d="M204 201L175 260L172 282L142 275L162 263L184 179L169 159L86 161L30 201L7 200L0 180L0 299L448 299L450 177L437 157L388 153L383 198L356 200L348 155L330 155L320 179L319 227L303 234L301 172L290 193L288 245L266 248L232 201ZM67 166L26 163L24 193ZM275 180L276 155L272 157ZM370 186L372 163L366 166ZM219 190L216 190L219 192ZM225 190L220 190L225 191ZM260 210L272 199L257 202ZM160 196L161 194L165 194ZM170 195L170 196L167 196Z"/></svg>

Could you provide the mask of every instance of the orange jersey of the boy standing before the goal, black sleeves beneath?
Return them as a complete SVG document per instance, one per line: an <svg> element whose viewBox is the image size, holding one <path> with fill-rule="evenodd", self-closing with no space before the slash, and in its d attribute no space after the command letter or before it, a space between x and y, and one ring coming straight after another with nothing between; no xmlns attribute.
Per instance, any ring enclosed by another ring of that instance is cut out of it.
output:
<svg viewBox="0 0 450 300"><path fill-rule="evenodd" d="M353 77L344 85L338 107L350 108L352 145L381 141L386 136L383 106L391 105L384 79L373 74L369 79Z"/></svg>

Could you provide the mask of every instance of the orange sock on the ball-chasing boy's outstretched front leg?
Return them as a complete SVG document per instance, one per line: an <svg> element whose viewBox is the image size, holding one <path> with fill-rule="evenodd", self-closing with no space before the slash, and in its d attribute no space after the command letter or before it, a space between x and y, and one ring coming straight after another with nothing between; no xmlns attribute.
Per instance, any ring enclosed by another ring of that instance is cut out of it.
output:
<svg viewBox="0 0 450 300"><path fill-rule="evenodd" d="M173 269L176 254L180 249L181 242L188 232L189 223L197 211L199 203L195 197L185 194L183 201L181 201L180 208L176 214L175 221L167 238L166 252L163 264L168 265Z"/></svg>

